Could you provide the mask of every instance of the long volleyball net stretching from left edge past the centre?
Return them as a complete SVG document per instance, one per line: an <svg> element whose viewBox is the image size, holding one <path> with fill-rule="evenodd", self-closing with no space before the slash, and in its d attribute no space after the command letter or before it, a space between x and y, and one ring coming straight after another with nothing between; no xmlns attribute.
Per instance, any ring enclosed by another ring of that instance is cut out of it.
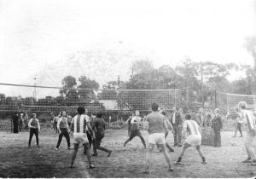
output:
<svg viewBox="0 0 256 179"><path fill-rule="evenodd" d="M8 91L8 94L5 94ZM183 106L187 89L109 90L78 89L20 84L0 84L0 111L75 113L77 107L88 111L150 111L153 102L162 109Z"/></svg>

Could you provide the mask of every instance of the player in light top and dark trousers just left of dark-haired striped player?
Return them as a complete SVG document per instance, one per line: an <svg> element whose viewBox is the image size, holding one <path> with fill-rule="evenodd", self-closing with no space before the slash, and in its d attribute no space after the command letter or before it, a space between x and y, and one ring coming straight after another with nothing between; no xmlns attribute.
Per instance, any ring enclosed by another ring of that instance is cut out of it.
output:
<svg viewBox="0 0 256 179"><path fill-rule="evenodd" d="M57 129L60 132L59 135L59 140L57 143L57 146L55 147L56 150L59 150L60 145L61 145L61 141L62 141L62 137L65 136L66 140L67 140L67 149L71 149L70 147L70 136L69 136L69 127L68 127L68 122L67 122L67 118L66 118L66 112L62 111L61 112L61 118L59 118L59 121L57 123Z"/></svg>

